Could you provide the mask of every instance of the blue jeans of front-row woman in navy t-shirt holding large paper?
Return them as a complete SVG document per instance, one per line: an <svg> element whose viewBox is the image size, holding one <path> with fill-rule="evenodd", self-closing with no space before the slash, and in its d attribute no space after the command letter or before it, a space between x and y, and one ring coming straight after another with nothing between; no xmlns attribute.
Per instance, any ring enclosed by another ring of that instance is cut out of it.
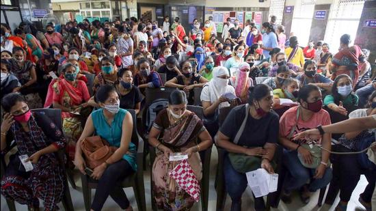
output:
<svg viewBox="0 0 376 211"><path fill-rule="evenodd" d="M230 159L228 158L228 154L226 154L224 157L224 180L226 183L226 191L228 195L230 195L231 200L234 202L241 201L241 195L243 195L248 184L247 176L245 175L245 173L239 173L232 167ZM263 197L254 197L254 209L266 209Z"/></svg>

